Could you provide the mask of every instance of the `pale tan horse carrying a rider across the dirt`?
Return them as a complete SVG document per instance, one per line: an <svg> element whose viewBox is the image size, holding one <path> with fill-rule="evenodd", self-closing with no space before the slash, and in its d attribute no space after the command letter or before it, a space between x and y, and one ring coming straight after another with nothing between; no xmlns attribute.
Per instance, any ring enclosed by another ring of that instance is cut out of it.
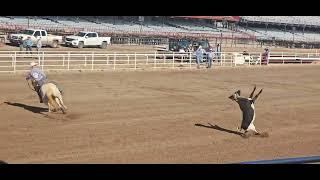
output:
<svg viewBox="0 0 320 180"><path fill-rule="evenodd" d="M63 104L62 95L58 87L53 83L46 83L41 86L43 102L48 105L49 112L55 112L58 109L66 113L67 107Z"/></svg>

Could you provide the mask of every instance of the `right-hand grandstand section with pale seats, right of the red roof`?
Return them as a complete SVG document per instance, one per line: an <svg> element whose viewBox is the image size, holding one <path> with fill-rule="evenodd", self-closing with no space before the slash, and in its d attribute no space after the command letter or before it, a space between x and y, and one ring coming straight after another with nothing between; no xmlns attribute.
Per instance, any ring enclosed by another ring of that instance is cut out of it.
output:
<svg viewBox="0 0 320 180"><path fill-rule="evenodd" d="M239 27L258 41L283 41L288 45L319 47L320 16L242 16Z"/></svg>

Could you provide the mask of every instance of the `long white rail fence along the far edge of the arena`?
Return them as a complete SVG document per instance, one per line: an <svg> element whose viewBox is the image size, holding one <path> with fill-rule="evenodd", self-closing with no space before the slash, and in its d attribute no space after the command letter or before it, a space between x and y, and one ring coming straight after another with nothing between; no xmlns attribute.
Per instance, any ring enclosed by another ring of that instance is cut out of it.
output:
<svg viewBox="0 0 320 180"><path fill-rule="evenodd" d="M262 59L262 61L261 61ZM320 60L316 53L272 53L269 63ZM29 63L36 61L43 70L118 70L148 68L196 68L192 53L104 53L92 51L43 51L27 54L20 51L0 51L0 72L29 70ZM202 64L205 66L206 58ZM250 53L246 58L241 53L216 54L213 66L252 66L266 64L261 53Z"/></svg>

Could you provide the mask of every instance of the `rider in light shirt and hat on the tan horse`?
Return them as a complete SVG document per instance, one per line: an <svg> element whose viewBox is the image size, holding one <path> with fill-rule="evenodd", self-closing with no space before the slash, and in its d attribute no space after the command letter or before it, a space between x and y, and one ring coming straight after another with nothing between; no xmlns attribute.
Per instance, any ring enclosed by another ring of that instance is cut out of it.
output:
<svg viewBox="0 0 320 180"><path fill-rule="evenodd" d="M36 82L36 85L34 89L36 90L40 103L43 103L42 101L42 95L41 95L41 86L46 83L47 76L43 73L41 69L37 67L38 63L31 62L31 71L27 74L26 80L32 79Z"/></svg>

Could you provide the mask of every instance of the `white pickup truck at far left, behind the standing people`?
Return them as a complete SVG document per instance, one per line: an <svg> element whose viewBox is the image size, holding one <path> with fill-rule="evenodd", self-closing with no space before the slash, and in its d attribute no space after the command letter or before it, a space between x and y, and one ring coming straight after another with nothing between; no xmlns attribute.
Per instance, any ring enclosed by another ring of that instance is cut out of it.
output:
<svg viewBox="0 0 320 180"><path fill-rule="evenodd" d="M28 37L31 37L33 46L37 45L39 37L41 37L42 46L51 46L56 48L59 44L63 44L62 36L48 34L46 30L42 29L26 29L19 34L11 34L9 36L9 41L12 44L18 44L20 37L22 37L22 40L26 40Z"/></svg>

